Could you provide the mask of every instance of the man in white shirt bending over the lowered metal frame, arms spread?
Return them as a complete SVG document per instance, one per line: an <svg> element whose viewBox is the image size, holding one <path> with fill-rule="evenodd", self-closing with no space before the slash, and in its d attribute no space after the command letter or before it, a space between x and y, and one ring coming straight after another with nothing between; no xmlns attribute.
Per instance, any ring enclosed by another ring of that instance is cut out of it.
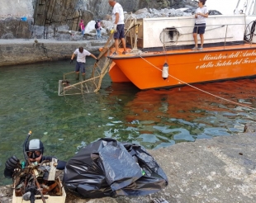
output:
<svg viewBox="0 0 256 203"><path fill-rule="evenodd" d="M70 64L73 63L73 58L77 55L77 64L75 65L75 73L76 73L76 80L79 79L79 71L82 73L83 80L85 80L85 62L86 62L86 56L92 56L92 58L96 59L98 61L97 57L88 50L83 50L83 47L79 47L79 49L76 49L70 60Z"/></svg>

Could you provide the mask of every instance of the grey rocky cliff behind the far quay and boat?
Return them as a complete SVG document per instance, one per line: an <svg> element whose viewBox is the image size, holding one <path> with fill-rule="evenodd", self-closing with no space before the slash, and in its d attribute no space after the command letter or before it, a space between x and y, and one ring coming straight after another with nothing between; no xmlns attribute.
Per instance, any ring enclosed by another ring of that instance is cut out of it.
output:
<svg viewBox="0 0 256 203"><path fill-rule="evenodd" d="M135 12L140 8L178 8L192 0L119 0L124 11ZM26 0L10 2L1 0L0 39L49 39L57 35L59 27L78 31L81 19L89 21L106 19L112 8L107 0ZM23 17L23 18L22 18ZM24 18L25 17L25 18Z"/></svg>

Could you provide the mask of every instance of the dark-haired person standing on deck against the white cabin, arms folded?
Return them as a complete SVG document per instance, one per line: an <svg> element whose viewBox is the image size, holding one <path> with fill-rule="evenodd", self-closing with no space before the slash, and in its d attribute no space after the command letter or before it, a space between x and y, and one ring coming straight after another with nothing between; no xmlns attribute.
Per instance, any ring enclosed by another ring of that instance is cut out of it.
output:
<svg viewBox="0 0 256 203"><path fill-rule="evenodd" d="M205 6L206 0L199 0L198 8L195 13L196 23L193 30L193 37L195 40L195 47L192 50L202 50L204 43L204 33L206 30L206 17L208 17L208 9ZM201 38L201 47L197 45L197 34L200 35Z"/></svg>

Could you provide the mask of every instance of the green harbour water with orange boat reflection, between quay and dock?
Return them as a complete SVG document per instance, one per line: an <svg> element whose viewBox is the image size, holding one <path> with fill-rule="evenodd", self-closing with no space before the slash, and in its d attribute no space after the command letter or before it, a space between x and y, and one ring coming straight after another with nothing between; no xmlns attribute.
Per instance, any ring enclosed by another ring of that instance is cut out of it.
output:
<svg viewBox="0 0 256 203"><path fill-rule="evenodd" d="M92 68L94 60L88 59ZM83 146L111 137L158 149L178 142L235 135L256 120L255 79L198 84L220 100L192 87L140 91L106 76L99 93L58 96L68 61L0 68L0 185L6 159L23 158L29 130L45 144L45 154L68 160ZM90 75L89 73L87 74Z"/></svg>

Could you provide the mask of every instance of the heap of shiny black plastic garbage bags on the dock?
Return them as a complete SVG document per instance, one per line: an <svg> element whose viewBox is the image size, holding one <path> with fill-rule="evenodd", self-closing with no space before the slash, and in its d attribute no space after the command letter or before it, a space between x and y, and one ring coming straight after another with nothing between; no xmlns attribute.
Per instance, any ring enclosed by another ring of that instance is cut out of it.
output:
<svg viewBox="0 0 256 203"><path fill-rule="evenodd" d="M162 168L137 144L99 139L69 160L64 186L87 198L145 196L168 185Z"/></svg>

